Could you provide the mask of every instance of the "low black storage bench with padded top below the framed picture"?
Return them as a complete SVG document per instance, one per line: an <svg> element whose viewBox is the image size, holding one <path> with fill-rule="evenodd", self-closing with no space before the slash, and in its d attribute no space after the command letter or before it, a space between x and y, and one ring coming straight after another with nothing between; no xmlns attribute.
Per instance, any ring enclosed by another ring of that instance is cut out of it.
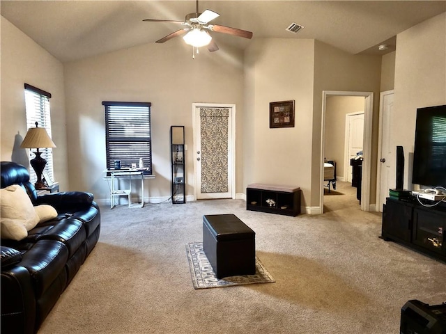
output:
<svg viewBox="0 0 446 334"><path fill-rule="evenodd" d="M300 214L300 188L275 184L248 184L246 209L297 216Z"/></svg>

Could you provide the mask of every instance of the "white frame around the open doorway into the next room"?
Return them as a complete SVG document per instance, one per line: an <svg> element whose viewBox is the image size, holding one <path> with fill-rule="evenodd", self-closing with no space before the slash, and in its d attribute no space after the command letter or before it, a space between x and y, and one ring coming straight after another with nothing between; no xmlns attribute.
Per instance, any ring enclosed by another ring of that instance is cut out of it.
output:
<svg viewBox="0 0 446 334"><path fill-rule="evenodd" d="M363 131L363 157L362 163L362 182L361 182L361 202L360 209L362 211L370 211L370 174L371 174L371 126L373 119L373 98L372 92L353 92L353 91L323 91L322 102L322 118L321 118L321 181L320 181L320 211L323 213L323 194L324 194L324 160L325 160L325 123L326 123L326 109L327 99L332 96L352 96L352 97L364 97L364 131ZM343 160L344 161L344 160Z"/></svg>

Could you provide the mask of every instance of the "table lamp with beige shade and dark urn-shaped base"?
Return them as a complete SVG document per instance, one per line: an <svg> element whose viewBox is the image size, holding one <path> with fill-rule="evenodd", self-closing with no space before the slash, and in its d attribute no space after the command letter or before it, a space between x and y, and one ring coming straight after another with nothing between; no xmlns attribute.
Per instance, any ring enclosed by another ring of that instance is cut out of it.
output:
<svg viewBox="0 0 446 334"><path fill-rule="evenodd" d="M40 154L42 154L42 152L39 152L39 148L55 147L56 145L54 145L51 138L49 138L47 130L45 130L44 127L38 127L38 122L36 122L36 127L31 127L28 129L22 145L20 145L20 148L37 149L37 152L34 152L34 154L36 154L36 157L29 161L31 163L31 166L33 166L34 171L36 171L37 182L34 184L36 189L45 189L47 187L47 185L42 181L42 172L45 168L45 165L47 164L47 161L43 159L43 157L40 157Z"/></svg>

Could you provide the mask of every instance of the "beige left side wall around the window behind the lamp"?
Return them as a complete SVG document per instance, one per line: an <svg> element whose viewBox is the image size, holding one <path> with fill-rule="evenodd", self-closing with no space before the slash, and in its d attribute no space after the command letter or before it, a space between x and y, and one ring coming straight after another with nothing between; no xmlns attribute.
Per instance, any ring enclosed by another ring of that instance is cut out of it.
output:
<svg viewBox="0 0 446 334"><path fill-rule="evenodd" d="M24 84L52 94L50 99L54 178L68 189L65 93L63 65L4 17L1 20L1 161L29 168L20 144L26 135ZM32 154L34 156L34 154Z"/></svg>

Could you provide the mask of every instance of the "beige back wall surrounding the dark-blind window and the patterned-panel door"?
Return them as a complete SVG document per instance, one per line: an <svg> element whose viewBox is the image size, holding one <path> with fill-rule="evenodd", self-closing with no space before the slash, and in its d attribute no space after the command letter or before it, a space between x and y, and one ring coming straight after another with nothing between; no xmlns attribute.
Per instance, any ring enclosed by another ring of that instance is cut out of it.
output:
<svg viewBox="0 0 446 334"><path fill-rule="evenodd" d="M102 101L151 102L153 169L144 197L165 199L171 194L169 129L185 125L186 195L193 195L192 103L236 104L236 136L242 133L243 53L220 46L192 59L183 40L150 43L67 63L66 106L70 143L70 184L107 199L105 120ZM236 192L242 193L242 141L236 141ZM156 201L156 200L155 200Z"/></svg>

